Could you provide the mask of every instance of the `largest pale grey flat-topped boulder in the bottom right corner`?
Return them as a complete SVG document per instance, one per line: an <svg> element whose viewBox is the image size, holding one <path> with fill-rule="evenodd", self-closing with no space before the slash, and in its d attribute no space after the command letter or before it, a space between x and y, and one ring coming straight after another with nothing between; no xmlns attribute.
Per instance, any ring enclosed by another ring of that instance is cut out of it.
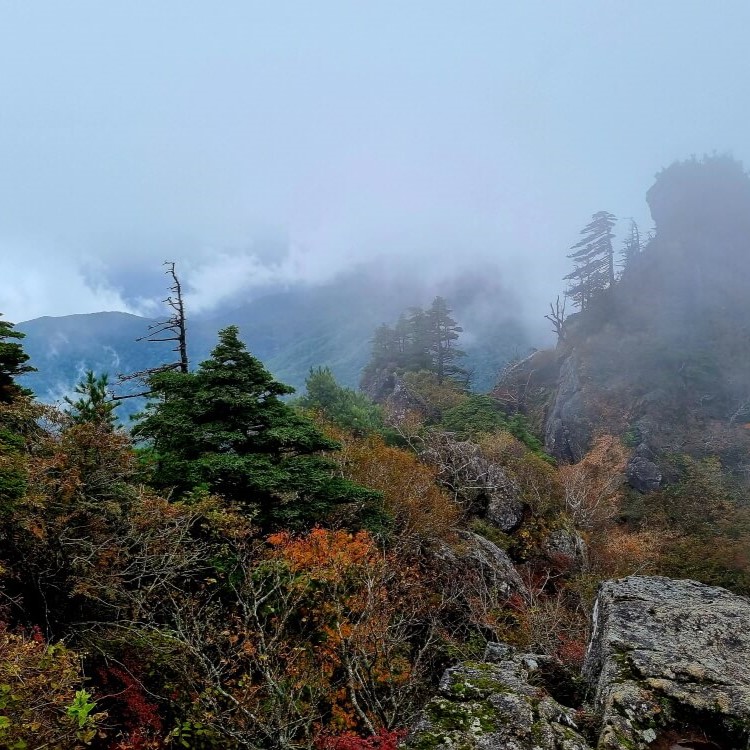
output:
<svg viewBox="0 0 750 750"><path fill-rule="evenodd" d="M584 664L603 712L598 747L682 738L745 748L749 625L750 601L724 589L661 577L605 583Z"/></svg>

